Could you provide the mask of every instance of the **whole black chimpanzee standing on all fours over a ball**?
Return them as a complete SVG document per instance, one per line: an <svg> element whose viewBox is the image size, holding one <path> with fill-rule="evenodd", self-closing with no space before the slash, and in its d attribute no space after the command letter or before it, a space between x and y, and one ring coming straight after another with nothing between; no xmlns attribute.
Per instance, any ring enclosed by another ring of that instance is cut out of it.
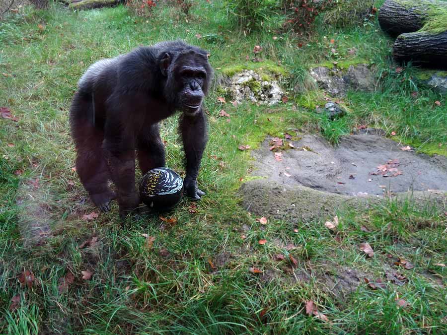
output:
<svg viewBox="0 0 447 335"><path fill-rule="evenodd" d="M135 158L143 174L165 165L158 122L175 111L182 112L184 192L201 199L204 192L197 187L197 175L207 142L202 102L212 76L207 53L182 41L139 47L87 69L73 97L70 124L76 171L100 210L110 210L114 198L121 216L139 206Z"/></svg>

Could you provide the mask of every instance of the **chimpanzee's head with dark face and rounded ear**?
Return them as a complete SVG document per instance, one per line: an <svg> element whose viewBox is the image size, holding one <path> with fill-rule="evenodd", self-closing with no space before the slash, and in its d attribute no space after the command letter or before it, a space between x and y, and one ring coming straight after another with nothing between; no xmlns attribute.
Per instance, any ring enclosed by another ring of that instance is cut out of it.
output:
<svg viewBox="0 0 447 335"><path fill-rule="evenodd" d="M208 94L213 69L204 50L186 46L178 53L160 55L159 65L162 75L166 77L165 98L176 109L193 116L200 111Z"/></svg>

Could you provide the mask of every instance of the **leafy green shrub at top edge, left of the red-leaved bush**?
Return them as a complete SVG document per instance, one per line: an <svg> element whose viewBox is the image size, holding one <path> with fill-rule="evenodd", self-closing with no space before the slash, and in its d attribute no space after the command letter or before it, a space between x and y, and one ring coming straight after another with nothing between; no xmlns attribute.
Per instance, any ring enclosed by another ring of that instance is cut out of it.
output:
<svg viewBox="0 0 447 335"><path fill-rule="evenodd" d="M236 18L237 26L245 33L260 30L279 9L277 0L225 0L229 18Z"/></svg>

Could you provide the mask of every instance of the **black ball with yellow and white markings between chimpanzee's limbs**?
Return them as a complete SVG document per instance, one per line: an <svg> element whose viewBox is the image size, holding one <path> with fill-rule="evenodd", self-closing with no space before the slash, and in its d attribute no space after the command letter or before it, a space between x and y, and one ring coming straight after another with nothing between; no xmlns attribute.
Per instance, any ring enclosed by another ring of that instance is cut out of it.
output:
<svg viewBox="0 0 447 335"><path fill-rule="evenodd" d="M174 207L182 198L183 181L175 171L156 168L140 182L140 197L150 208L163 211Z"/></svg>

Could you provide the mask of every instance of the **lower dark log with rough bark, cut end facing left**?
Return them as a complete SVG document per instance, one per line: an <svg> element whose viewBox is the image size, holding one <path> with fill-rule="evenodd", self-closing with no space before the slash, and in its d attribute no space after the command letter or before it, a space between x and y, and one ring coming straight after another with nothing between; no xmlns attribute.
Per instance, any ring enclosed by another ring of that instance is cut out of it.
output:
<svg viewBox="0 0 447 335"><path fill-rule="evenodd" d="M447 69L447 31L402 34L394 42L394 59L399 63Z"/></svg>

